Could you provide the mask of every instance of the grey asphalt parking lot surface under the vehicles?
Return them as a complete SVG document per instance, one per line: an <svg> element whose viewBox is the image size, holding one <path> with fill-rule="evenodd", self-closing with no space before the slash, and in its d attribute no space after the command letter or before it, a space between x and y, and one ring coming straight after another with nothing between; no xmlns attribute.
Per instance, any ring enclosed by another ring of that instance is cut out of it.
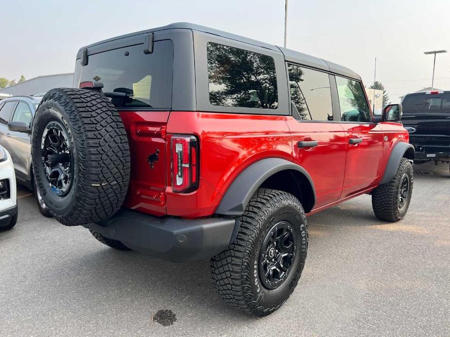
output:
<svg viewBox="0 0 450 337"><path fill-rule="evenodd" d="M432 174L415 175L399 223L376 219L366 195L309 217L299 285L262 319L222 303L208 261L108 248L20 188L18 223L0 232L0 336L449 336L449 168L414 169Z"/></svg>

